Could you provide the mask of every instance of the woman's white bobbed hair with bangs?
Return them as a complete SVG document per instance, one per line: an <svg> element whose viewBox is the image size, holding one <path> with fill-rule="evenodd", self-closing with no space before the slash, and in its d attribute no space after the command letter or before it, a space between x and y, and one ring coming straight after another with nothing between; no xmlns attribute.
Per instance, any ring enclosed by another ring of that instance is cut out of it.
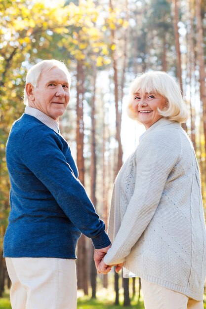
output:
<svg viewBox="0 0 206 309"><path fill-rule="evenodd" d="M165 109L158 109L160 115L177 122L185 122L187 120L187 107L182 99L180 86L167 73L161 71L143 73L137 76L131 83L127 114L134 120L137 120L137 114L132 108L132 103L134 94L137 92L159 93L165 97L166 101Z"/></svg>

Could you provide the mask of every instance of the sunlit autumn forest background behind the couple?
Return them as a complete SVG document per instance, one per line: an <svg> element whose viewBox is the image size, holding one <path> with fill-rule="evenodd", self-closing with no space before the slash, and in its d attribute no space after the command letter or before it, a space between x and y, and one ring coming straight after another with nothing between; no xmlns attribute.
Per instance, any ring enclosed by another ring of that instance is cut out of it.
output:
<svg viewBox="0 0 206 309"><path fill-rule="evenodd" d="M5 145L24 112L26 72L43 59L63 60L70 70L71 99L60 130L106 226L115 176L144 132L126 116L128 86L150 70L180 83L190 115L183 127L197 154L206 209L206 0L0 0L0 296L10 286L2 258L10 188ZM78 289L95 298L114 284L118 305L123 286L129 305L139 280L119 284L114 273L97 278L84 236L77 251Z"/></svg>

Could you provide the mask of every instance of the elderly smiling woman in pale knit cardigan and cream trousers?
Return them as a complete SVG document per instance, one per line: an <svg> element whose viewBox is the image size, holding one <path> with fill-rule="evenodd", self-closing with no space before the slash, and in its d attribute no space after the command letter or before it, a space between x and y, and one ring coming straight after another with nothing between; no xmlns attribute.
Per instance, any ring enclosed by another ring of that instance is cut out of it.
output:
<svg viewBox="0 0 206 309"><path fill-rule="evenodd" d="M203 309L206 227L200 172L178 84L164 72L136 77L128 114L146 132L114 185L109 236L99 265L124 263L141 278L145 309Z"/></svg>

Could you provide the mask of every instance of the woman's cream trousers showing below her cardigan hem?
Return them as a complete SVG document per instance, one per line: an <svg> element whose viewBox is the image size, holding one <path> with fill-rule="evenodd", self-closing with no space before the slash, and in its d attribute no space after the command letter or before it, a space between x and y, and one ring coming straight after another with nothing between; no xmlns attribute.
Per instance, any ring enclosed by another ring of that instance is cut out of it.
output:
<svg viewBox="0 0 206 309"><path fill-rule="evenodd" d="M204 309L203 301L141 279L145 309Z"/></svg>

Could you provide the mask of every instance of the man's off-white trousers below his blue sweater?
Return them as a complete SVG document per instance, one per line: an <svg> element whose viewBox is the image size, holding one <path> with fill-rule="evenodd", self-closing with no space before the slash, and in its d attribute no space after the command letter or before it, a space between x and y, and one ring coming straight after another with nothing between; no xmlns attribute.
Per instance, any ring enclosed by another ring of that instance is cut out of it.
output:
<svg viewBox="0 0 206 309"><path fill-rule="evenodd" d="M76 309L75 260L6 258L12 309Z"/></svg>

